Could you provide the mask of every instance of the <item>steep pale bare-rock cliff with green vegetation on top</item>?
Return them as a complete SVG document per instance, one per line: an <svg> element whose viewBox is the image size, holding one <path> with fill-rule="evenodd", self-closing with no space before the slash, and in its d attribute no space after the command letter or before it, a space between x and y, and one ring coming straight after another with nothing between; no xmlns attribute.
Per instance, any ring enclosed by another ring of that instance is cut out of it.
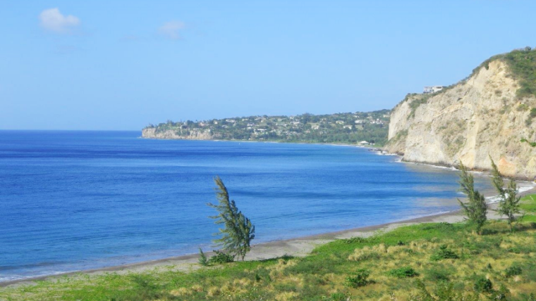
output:
<svg viewBox="0 0 536 301"><path fill-rule="evenodd" d="M409 162L536 176L536 51L489 58L433 94L408 94L392 110L385 150Z"/></svg>

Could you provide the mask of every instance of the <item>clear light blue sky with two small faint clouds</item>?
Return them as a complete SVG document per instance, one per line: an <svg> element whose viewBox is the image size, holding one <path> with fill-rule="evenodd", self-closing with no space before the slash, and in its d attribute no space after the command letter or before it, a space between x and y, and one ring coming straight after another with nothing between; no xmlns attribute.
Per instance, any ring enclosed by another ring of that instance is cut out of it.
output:
<svg viewBox="0 0 536 301"><path fill-rule="evenodd" d="M533 0L0 6L0 129L390 109L536 46Z"/></svg>

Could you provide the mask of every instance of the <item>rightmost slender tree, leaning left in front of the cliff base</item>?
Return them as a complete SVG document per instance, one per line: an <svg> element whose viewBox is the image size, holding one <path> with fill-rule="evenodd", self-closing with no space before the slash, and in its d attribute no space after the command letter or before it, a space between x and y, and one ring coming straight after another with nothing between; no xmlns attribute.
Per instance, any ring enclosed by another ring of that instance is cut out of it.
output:
<svg viewBox="0 0 536 301"><path fill-rule="evenodd" d="M495 165L495 162L493 162L491 156L489 156L489 160L492 160L492 183L499 193L499 207L497 207L497 210L495 211L501 215L506 215L508 226L510 226L510 231L512 232L513 222L516 222L515 214L521 212L519 203L521 197L516 196L518 194L518 186L516 181L511 179L508 186L505 187L501 173L499 173L499 169L497 168L497 165Z"/></svg>

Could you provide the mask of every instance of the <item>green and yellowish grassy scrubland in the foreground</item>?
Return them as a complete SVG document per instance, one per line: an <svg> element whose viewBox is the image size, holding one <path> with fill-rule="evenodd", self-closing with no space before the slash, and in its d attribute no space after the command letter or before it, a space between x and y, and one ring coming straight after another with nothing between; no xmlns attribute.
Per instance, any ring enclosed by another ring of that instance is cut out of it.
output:
<svg viewBox="0 0 536 301"><path fill-rule="evenodd" d="M0 300L536 300L536 195L515 233L492 221L404 226L319 246L303 258L188 273L71 276L1 288Z"/></svg>

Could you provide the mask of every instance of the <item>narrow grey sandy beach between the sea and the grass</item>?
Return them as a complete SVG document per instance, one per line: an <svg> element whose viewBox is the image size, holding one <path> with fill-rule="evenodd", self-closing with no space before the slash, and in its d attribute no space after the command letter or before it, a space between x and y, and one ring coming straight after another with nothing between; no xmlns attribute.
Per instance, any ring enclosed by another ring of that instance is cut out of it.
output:
<svg viewBox="0 0 536 301"><path fill-rule="evenodd" d="M525 196L531 193L536 193L536 187L532 187L527 191L519 193L519 196ZM491 196L487 196L489 198ZM494 209L497 207L497 203L489 203L488 219L501 219ZM310 236L302 236L298 238L289 238L281 241L269 241L266 243L259 243L252 245L251 251L245 257L245 260L268 260L275 257L281 257L284 255L291 255L295 257L304 257L308 255L317 246L335 241L338 239L352 238L352 237L369 237L373 236L378 231L391 231L400 226L409 226L412 224L421 224L428 222L448 222L456 223L463 222L463 214L461 209L451 212L443 212L438 214L432 214L425 217L417 217L412 219L403 219L401 221L389 222L385 224L377 224L371 226L362 226L353 229L346 229L341 231L334 231L328 233L320 233ZM213 252L205 252L206 255L212 256ZM29 278L20 278L10 281L1 281L0 288L8 286L21 286L32 285L35 281L47 281L47 280L60 280L66 276L92 276L102 275L107 273L127 274L136 273L142 271L150 271L155 269L166 269L174 271L195 271L200 268L197 264L199 258L198 254L179 255L174 257L166 257L160 260L148 260L144 262L135 262L131 264L121 264L111 267L102 267L99 269L87 269L82 271L68 271L65 273L34 276Z"/></svg>

